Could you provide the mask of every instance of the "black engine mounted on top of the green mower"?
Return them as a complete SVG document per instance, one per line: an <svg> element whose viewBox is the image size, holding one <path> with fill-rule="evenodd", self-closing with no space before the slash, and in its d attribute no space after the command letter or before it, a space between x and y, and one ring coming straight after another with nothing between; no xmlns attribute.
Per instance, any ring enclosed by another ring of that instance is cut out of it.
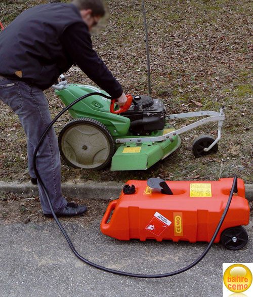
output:
<svg viewBox="0 0 253 297"><path fill-rule="evenodd" d="M149 135L152 131L163 130L166 109L159 99L149 96L133 96L133 103L128 111L120 115L131 120L130 132L137 135Z"/></svg>

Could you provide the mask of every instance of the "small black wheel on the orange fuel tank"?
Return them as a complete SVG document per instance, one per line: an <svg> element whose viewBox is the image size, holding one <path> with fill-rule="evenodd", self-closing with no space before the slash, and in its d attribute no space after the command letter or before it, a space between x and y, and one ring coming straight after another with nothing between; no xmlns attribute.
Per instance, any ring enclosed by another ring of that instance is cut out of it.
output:
<svg viewBox="0 0 253 297"><path fill-rule="evenodd" d="M228 249L240 249L248 241L248 234L242 226L225 229L221 234L220 242Z"/></svg>

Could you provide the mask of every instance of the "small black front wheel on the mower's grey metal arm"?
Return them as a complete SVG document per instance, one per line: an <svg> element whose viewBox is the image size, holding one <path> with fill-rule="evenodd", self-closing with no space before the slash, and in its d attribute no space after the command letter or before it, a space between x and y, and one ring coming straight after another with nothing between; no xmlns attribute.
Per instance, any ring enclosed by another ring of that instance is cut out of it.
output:
<svg viewBox="0 0 253 297"><path fill-rule="evenodd" d="M192 152L194 156L199 158L210 154L216 154L218 152L218 144L212 147L208 152L204 151L204 148L208 148L214 141L215 138L209 135L200 135L197 137L192 144Z"/></svg>

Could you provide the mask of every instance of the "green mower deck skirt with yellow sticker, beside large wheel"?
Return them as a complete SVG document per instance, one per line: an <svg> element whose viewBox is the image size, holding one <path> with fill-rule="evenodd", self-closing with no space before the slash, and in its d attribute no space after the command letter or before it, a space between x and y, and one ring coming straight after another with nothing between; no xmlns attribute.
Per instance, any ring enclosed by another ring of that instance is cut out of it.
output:
<svg viewBox="0 0 253 297"><path fill-rule="evenodd" d="M145 170L151 167L159 160L172 154L181 144L179 136L174 136L173 142L170 139L156 143L142 143L136 145L126 143L118 147L111 162L111 171L126 171L126 170ZM136 152L128 148L136 148Z"/></svg>

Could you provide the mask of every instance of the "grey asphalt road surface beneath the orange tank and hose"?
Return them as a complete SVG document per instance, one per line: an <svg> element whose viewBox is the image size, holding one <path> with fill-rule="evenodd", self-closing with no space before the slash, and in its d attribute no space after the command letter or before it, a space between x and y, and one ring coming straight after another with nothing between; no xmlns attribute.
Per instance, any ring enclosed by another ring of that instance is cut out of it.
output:
<svg viewBox="0 0 253 297"><path fill-rule="evenodd" d="M135 273L165 273L193 262L206 243L118 241L93 224L64 223L77 251L89 260ZM214 244L207 256L182 274L160 279L113 275L79 261L53 221L0 225L1 296L222 296L222 263L252 262L249 241L238 251Z"/></svg>

